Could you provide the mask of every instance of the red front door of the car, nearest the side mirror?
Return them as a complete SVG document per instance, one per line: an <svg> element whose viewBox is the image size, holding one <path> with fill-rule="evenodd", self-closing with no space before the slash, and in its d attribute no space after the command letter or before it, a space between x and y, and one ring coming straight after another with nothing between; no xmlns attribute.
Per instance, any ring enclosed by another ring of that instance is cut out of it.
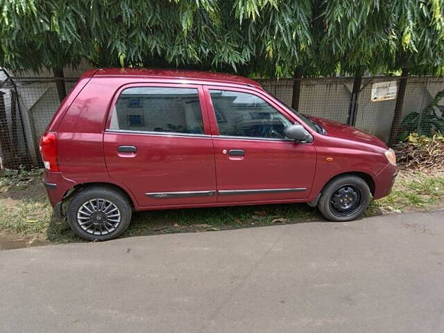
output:
<svg viewBox="0 0 444 333"><path fill-rule="evenodd" d="M307 198L316 150L313 144L285 137L284 128L295 122L290 115L252 89L204 89L213 133L217 202Z"/></svg>

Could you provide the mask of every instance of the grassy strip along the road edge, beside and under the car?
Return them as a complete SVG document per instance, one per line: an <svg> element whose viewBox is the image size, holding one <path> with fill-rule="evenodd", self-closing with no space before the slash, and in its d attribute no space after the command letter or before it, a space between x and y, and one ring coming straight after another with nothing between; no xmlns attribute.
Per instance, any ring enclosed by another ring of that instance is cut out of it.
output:
<svg viewBox="0 0 444 333"><path fill-rule="evenodd" d="M65 221L52 216L41 171L0 178L0 232L53 243L81 241ZM373 201L366 215L444 207L444 173L402 172L392 193ZM137 212L123 237L204 232L323 219L305 204L260 205Z"/></svg>

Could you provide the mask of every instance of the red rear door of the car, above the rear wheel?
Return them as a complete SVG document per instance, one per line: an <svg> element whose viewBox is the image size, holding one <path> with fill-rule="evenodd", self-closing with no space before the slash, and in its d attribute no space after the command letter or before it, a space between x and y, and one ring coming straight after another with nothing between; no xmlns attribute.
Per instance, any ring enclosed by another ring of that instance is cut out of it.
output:
<svg viewBox="0 0 444 333"><path fill-rule="evenodd" d="M140 206L214 203L216 178L200 85L119 89L103 135L109 176Z"/></svg>

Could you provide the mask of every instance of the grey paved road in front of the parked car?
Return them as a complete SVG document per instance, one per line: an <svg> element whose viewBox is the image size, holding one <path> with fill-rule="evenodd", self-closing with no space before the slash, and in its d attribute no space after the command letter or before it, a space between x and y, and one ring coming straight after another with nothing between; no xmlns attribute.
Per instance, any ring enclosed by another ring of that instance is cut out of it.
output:
<svg viewBox="0 0 444 333"><path fill-rule="evenodd" d="M444 332L444 211L1 251L0 332Z"/></svg>

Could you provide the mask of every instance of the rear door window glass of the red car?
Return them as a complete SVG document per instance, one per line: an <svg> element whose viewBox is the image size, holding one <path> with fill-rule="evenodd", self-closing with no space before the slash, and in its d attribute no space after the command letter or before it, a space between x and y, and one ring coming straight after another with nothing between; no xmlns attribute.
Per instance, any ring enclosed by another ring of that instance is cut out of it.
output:
<svg viewBox="0 0 444 333"><path fill-rule="evenodd" d="M203 134L198 89L125 89L112 112L110 130Z"/></svg>

